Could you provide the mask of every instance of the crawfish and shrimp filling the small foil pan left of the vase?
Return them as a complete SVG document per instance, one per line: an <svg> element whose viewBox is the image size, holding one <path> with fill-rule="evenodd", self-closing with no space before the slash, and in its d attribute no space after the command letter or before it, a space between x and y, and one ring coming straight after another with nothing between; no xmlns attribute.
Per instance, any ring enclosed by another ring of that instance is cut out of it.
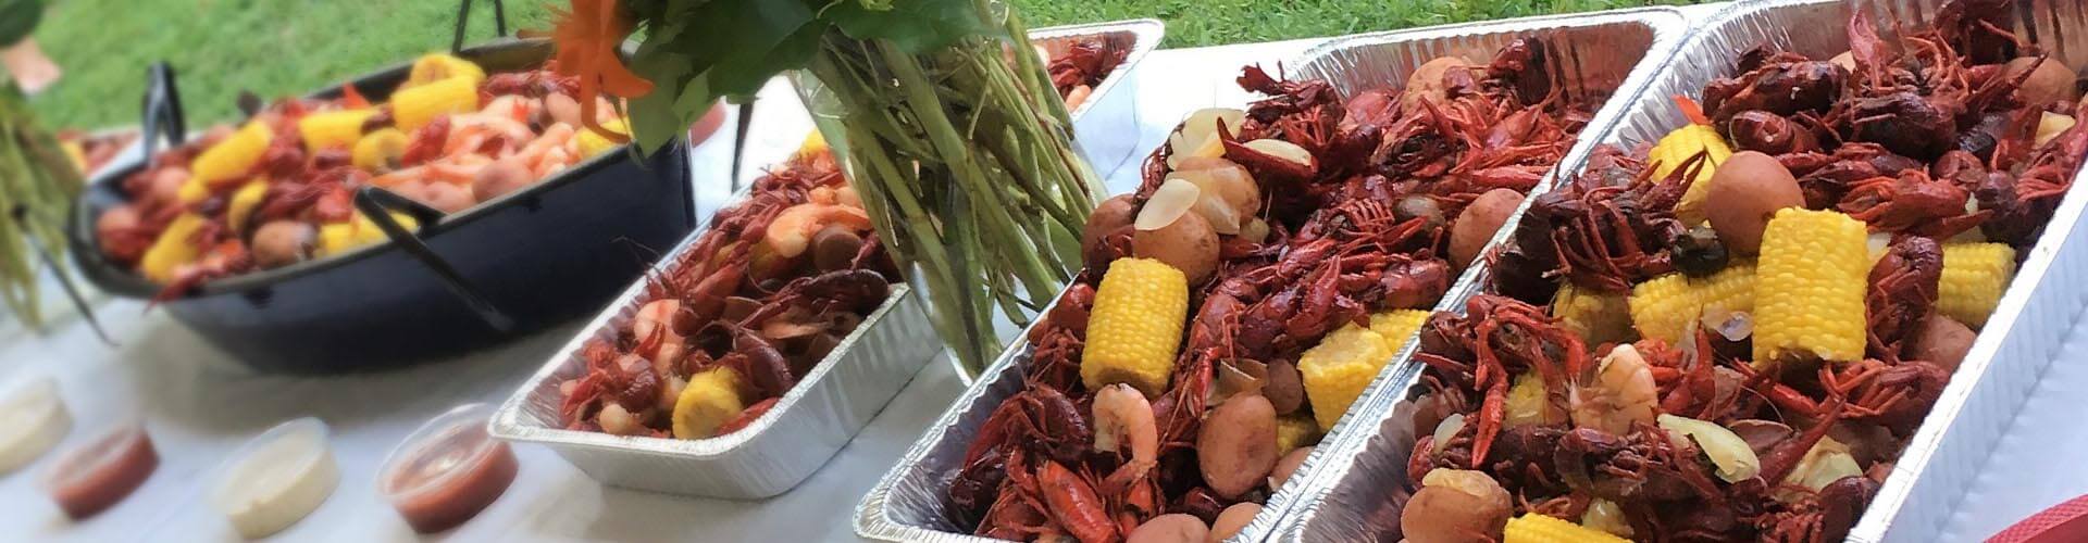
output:
<svg viewBox="0 0 2088 543"><path fill-rule="evenodd" d="M745 428L810 374L898 282L871 215L814 138L695 244L587 372L560 384L570 430L710 439Z"/></svg>

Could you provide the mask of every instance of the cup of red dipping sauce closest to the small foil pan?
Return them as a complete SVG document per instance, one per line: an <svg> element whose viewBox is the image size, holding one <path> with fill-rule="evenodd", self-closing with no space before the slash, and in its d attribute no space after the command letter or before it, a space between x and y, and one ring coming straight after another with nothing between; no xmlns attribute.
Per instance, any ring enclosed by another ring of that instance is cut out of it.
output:
<svg viewBox="0 0 2088 543"><path fill-rule="evenodd" d="M378 495L416 533L441 533L472 520L516 480L516 453L487 434L493 407L459 405L413 430L378 472Z"/></svg>

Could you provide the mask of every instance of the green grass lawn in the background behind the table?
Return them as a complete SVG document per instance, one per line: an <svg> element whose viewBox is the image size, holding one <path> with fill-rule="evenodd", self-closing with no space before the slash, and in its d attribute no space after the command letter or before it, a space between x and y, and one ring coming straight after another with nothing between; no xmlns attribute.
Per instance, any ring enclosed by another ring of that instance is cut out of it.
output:
<svg viewBox="0 0 2088 543"><path fill-rule="evenodd" d="M493 36L491 2L474 40ZM549 4L507 2L509 25L549 27ZM1169 48L1441 25L1687 0L1011 0L1034 27L1155 17ZM443 0L56 0L35 40L65 79L31 100L48 125L138 121L144 67L180 73L190 125L236 115L234 96L301 94L449 46Z"/></svg>

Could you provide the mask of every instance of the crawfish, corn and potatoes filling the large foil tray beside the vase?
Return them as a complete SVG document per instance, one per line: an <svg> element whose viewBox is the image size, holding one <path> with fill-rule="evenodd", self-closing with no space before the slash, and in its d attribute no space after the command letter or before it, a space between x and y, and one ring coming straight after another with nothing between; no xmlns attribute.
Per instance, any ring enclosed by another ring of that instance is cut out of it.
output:
<svg viewBox="0 0 2088 543"><path fill-rule="evenodd" d="M1270 98L1190 115L1140 190L1090 215L1086 269L950 482L954 520L1000 539L1238 533L1420 328L1468 263L1460 238L1491 236L1587 123L1541 48L1349 100L1244 69Z"/></svg>

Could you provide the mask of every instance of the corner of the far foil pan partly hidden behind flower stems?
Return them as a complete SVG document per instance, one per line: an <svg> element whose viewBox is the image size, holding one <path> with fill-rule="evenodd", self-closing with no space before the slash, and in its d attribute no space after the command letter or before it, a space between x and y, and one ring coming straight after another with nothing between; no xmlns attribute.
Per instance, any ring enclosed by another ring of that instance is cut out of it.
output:
<svg viewBox="0 0 2088 543"><path fill-rule="evenodd" d="M1165 25L1155 19L1067 25L1031 29L1029 42L1061 54L1079 40L1100 38L1113 50L1125 50L1123 63L1102 75L1088 100L1067 111L1073 119L1073 140L1096 171L1109 171L1138 150L1138 77L1132 69L1161 46Z"/></svg>

